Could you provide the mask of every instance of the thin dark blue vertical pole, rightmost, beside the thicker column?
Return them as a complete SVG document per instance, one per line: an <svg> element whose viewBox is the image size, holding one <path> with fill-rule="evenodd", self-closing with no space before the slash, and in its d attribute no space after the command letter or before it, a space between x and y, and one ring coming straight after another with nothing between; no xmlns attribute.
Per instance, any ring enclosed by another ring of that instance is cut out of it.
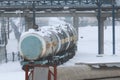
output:
<svg viewBox="0 0 120 80"><path fill-rule="evenodd" d="M115 4L112 2L112 37L113 37L113 55L115 55Z"/></svg>

